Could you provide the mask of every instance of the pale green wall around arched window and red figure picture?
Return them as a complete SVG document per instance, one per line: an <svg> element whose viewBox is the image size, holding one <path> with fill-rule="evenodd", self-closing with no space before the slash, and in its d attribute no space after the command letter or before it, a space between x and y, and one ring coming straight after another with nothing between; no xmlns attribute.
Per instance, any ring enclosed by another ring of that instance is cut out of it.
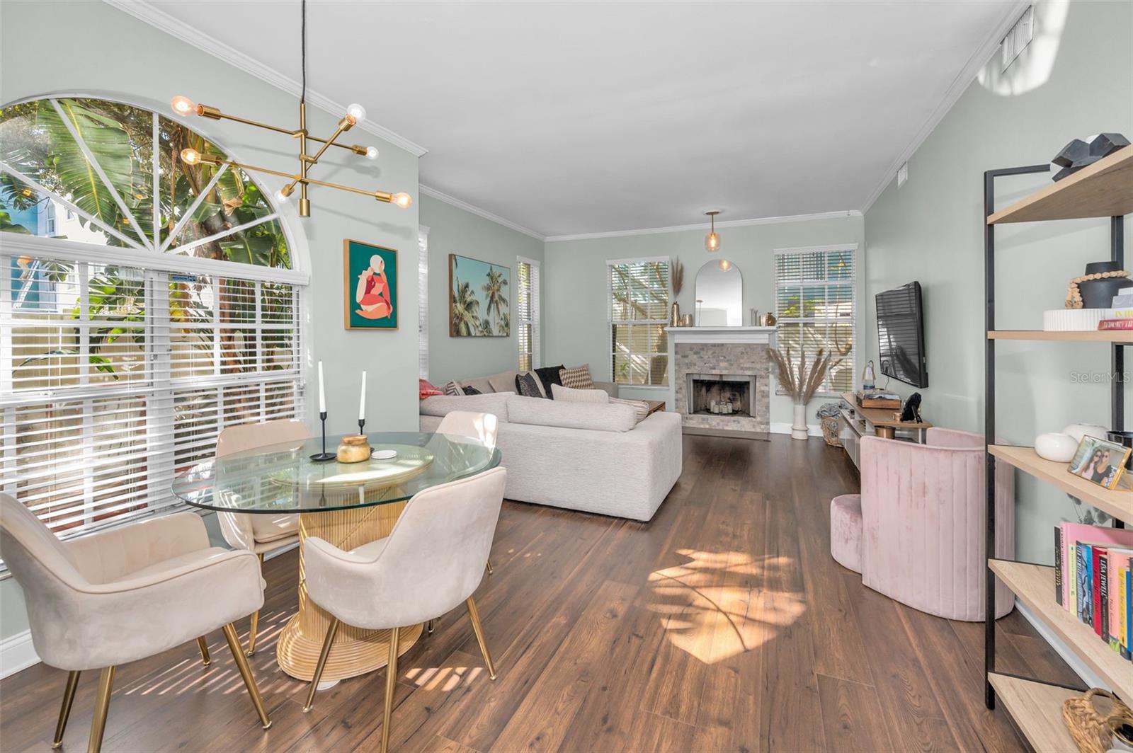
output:
<svg viewBox="0 0 1133 753"><path fill-rule="evenodd" d="M0 3L0 101L46 93L117 95L168 112L169 99L186 94L222 110L273 123L293 123L296 97L180 42L102 2ZM43 54L50 29L51 54ZM337 119L308 110L313 132L330 132ZM295 146L286 136L238 123L196 120L193 126L252 164L295 168ZM321 178L417 196L417 157L358 131L357 140L381 149L376 162L327 154ZM258 177L257 177L258 180ZM274 192L276 179L262 185ZM292 234L306 238L312 282L307 302L308 417L317 409L314 363L327 366L327 430L355 425L361 370L368 370L368 427L416 430L417 413L417 207L398 209L364 196L313 188L312 216L300 220L293 203L284 208ZM400 328L346 331L342 325L342 240L353 238L399 249ZM378 397L381 396L381 397ZM377 407L381 407L381 413ZM0 582L0 638L26 630L23 602L11 579Z"/></svg>

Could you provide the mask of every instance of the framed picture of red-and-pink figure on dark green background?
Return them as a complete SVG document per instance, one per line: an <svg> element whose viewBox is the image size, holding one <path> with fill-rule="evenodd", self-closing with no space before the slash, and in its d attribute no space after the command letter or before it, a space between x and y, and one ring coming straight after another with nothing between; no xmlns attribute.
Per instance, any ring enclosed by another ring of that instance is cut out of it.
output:
<svg viewBox="0 0 1133 753"><path fill-rule="evenodd" d="M342 241L343 324L347 330L398 328L398 251Z"/></svg>

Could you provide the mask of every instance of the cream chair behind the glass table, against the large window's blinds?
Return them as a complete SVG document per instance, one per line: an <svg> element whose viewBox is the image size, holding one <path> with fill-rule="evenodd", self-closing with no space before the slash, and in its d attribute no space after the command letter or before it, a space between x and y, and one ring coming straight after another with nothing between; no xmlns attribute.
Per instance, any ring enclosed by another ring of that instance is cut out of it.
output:
<svg viewBox="0 0 1133 753"><path fill-rule="evenodd" d="M282 444L300 443L309 436L303 421L279 419L263 423L238 423L221 429L216 437L216 457L235 455L238 452ZM265 513L218 512L220 532L235 549L247 549L259 557L263 567L264 555L299 542L298 515L269 515ZM252 615L248 625L248 656L256 652L256 633L259 628L259 611Z"/></svg>

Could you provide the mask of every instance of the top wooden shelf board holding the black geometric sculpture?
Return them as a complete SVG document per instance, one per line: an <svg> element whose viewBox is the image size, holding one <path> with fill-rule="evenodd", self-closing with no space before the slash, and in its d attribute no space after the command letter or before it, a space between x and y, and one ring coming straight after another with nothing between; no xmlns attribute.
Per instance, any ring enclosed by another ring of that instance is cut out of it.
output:
<svg viewBox="0 0 1133 753"><path fill-rule="evenodd" d="M1082 168L1057 183L988 216L989 225L1039 220L1116 217L1133 213L1133 146Z"/></svg>

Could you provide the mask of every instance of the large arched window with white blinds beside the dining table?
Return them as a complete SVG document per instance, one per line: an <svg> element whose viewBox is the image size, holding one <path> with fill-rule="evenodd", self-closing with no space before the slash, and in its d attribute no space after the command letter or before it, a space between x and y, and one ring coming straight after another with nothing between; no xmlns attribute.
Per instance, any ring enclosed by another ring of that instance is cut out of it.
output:
<svg viewBox="0 0 1133 753"><path fill-rule="evenodd" d="M187 146L224 155L120 102L0 109L0 490L61 536L168 510L224 426L303 417L306 275L259 186Z"/></svg>

